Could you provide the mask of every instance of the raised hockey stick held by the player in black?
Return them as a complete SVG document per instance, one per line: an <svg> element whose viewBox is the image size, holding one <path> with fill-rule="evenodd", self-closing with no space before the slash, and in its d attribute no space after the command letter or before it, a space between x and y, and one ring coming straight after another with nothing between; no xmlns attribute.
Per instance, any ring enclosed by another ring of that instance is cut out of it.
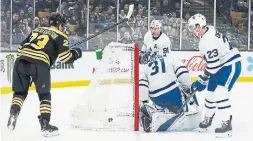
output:
<svg viewBox="0 0 253 141"><path fill-rule="evenodd" d="M129 9L128 9L128 13L127 13L126 18L124 18L123 20L121 20L121 21L118 22L118 23L115 23L115 24L113 24L113 25L110 25L110 26L104 28L102 31L98 32L97 34L94 34L94 35L92 35L92 36L90 36L90 37L88 37L88 38L85 38L85 39L83 39L83 40L81 40L81 41L79 41L79 42L77 42L77 43L71 45L70 48L72 48L72 47L74 47L74 46L77 46L77 45L80 45L80 44L82 44L82 43L85 43L85 42L87 42L88 40L90 40L90 39L92 39L92 38L94 38L94 37L96 37L96 36L98 36L98 35L100 35L100 34L106 32L106 31L108 31L108 30L110 30L110 29L116 27L117 25L120 25L120 24L122 24L122 23L124 23L124 22L127 22L127 21L129 20L129 18L131 17L133 11L134 11L134 4L131 4L131 5L129 6Z"/></svg>

